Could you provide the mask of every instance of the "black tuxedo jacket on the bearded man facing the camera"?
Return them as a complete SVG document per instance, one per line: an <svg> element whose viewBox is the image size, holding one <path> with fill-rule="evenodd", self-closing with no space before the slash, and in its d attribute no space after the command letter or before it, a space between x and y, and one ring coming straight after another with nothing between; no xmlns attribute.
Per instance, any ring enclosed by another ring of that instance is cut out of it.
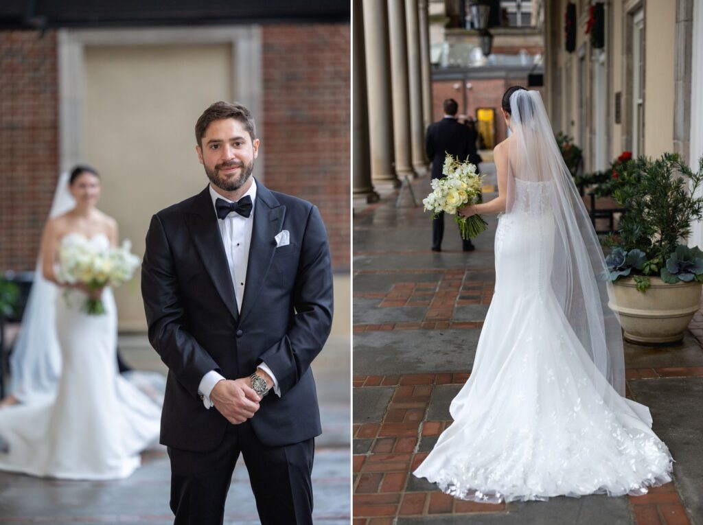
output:
<svg viewBox="0 0 703 525"><path fill-rule="evenodd" d="M269 392L252 417L266 446L321 434L310 363L332 324L330 252L318 209L257 183L246 286L236 297L208 188L153 216L141 288L149 340L169 368L161 443L211 451L231 424L202 406L198 386L209 370L226 379L266 362L280 398ZM276 247L288 230L290 245Z"/></svg>

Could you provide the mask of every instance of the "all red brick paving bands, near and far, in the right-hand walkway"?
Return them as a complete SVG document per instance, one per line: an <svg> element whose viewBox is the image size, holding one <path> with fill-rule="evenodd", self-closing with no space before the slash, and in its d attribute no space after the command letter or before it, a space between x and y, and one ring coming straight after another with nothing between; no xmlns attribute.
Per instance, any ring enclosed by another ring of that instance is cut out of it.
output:
<svg viewBox="0 0 703 525"><path fill-rule="evenodd" d="M421 192L420 192L421 193ZM368 205L356 214L363 218L374 216L382 208L388 208L384 200ZM382 216L389 215L387 209ZM389 224L413 221L418 209L400 207L393 210L395 221ZM429 221L427 221L429 230ZM373 226L359 226L354 231L369 235ZM427 231L429 238L429 231ZM396 245L397 246L397 245ZM492 249L476 249L472 254L493 252ZM355 256L420 256L427 254L422 249L392 249L367 251L355 249ZM386 291L354 292L354 297L366 299L370 309L426 307L421 320L394 323L355 323L353 330L359 332L382 332L386 330L447 330L451 328L481 329L482 320L456 320L456 309L466 305L489 305L495 290L493 280L475 280L477 273L492 273L490 267L442 268L359 268L354 276L392 277L394 284ZM441 266L441 265L440 265ZM405 281L402 277L408 274ZM417 274L439 275L439 280L413 282ZM397 282L395 282L397 281ZM385 287L384 287L385 288ZM375 299L377 302L368 301ZM703 299L702 299L703 307ZM365 306L366 308L366 306ZM416 308L415 308L416 310ZM703 311L693 318L690 332L703 344ZM412 373L398 375L355 375L354 389L367 387L393 387L392 398L380 422L353 425L354 443L362 443L352 456L354 472L353 525L394 525L398 519L412 517L441 517L512 512L514 503L491 505L457 500L434 490L407 490L411 472L427 457L420 451L423 437L439 436L451 421L427 420L432 392L438 385L464 384L468 373ZM702 377L702 366L628 368L626 370L626 396L632 398L631 381L653 380L669 377ZM426 448L426 447L425 447ZM356 450L356 447L355 447ZM676 480L675 480L676 481ZM415 488L417 488L415 486ZM636 525L692 525L683 506L681 494L674 483L653 488L643 496L628 497L628 505ZM604 524L605 525L605 524Z"/></svg>

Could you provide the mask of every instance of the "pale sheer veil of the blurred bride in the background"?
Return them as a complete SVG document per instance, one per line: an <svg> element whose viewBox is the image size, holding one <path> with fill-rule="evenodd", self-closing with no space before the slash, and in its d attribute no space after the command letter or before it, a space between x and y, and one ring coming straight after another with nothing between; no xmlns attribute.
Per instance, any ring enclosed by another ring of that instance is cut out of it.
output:
<svg viewBox="0 0 703 525"><path fill-rule="evenodd" d="M49 219L75 207L68 190L67 173L58 177ZM52 396L61 372L61 350L54 326L58 287L44 279L41 255L37 257L34 283L22 315L22 327L10 358L11 394L27 403Z"/></svg>

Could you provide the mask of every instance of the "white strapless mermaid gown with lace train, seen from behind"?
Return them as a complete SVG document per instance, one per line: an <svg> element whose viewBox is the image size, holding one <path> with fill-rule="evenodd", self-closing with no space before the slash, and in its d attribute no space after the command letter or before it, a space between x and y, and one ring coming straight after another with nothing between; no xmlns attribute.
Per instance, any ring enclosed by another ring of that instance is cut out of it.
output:
<svg viewBox="0 0 703 525"><path fill-rule="evenodd" d="M453 423L414 472L456 498L642 494L671 481L649 409L594 382L593 361L557 304L550 184L515 179L470 378L451 402Z"/></svg>

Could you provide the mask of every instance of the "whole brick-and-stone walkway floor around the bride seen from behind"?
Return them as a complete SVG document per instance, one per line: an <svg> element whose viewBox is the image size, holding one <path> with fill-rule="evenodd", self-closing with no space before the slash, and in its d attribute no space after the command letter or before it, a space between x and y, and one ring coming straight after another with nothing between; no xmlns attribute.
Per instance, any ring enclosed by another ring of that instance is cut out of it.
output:
<svg viewBox="0 0 703 525"><path fill-rule="evenodd" d="M482 169L494 185L494 165ZM419 204L429 180L413 188ZM443 251L434 253L421 205L396 208L394 194L355 204L354 525L703 525L703 351L691 334L667 348L626 344L628 395L650 407L676 459L674 483L640 498L487 505L453 500L411 476L471 371L494 290L497 222L486 217L489 230L465 253L446 217Z"/></svg>

